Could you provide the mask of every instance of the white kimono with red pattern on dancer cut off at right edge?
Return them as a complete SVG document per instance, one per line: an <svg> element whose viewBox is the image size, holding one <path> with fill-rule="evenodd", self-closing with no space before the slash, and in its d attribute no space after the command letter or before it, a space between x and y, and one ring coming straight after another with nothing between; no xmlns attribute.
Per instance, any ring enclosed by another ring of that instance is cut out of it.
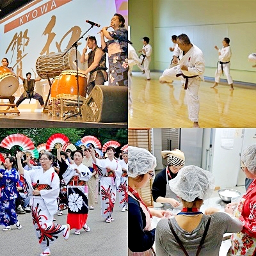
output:
<svg viewBox="0 0 256 256"><path fill-rule="evenodd" d="M125 170L128 170L128 163L125 163L124 160L119 162L121 167ZM127 172L122 170L121 183L118 187L119 191L119 207L128 209L128 184L127 184Z"/></svg>

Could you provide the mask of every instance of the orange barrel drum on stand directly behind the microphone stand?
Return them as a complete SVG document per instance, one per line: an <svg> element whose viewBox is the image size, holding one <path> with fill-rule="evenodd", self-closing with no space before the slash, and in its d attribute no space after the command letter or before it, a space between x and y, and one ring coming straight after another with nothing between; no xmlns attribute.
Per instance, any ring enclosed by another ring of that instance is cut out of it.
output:
<svg viewBox="0 0 256 256"><path fill-rule="evenodd" d="M79 95L86 97L87 79L86 76L78 72ZM58 94L77 95L76 70L65 70L61 72L57 89Z"/></svg>

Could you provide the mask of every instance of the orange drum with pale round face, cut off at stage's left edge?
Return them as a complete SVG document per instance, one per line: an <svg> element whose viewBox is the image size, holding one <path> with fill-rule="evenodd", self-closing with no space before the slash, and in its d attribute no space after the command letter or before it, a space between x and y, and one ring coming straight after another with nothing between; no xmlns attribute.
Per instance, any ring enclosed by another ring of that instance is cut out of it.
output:
<svg viewBox="0 0 256 256"><path fill-rule="evenodd" d="M19 88L19 79L10 68L0 67L0 96L12 96Z"/></svg>

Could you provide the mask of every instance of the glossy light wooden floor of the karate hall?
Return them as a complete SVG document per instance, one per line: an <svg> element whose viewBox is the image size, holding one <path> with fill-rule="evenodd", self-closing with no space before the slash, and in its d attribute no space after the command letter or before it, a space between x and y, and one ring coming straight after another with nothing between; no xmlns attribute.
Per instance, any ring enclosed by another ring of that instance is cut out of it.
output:
<svg viewBox="0 0 256 256"><path fill-rule="evenodd" d="M132 73L129 128L193 127L181 81L161 84L160 76L161 73L155 72L151 81L145 81L141 73ZM200 127L256 127L256 84L234 84L234 91L227 84L212 89L212 84L200 84Z"/></svg>

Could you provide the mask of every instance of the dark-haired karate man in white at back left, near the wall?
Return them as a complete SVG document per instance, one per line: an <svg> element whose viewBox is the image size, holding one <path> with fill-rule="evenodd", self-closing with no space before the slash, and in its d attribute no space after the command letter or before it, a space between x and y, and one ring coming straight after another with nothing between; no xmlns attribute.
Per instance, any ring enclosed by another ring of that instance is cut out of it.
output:
<svg viewBox="0 0 256 256"><path fill-rule="evenodd" d="M141 65L143 65L143 74L146 74L148 81L150 81L150 70L149 70L149 63L151 61L151 54L152 54L152 46L149 43L149 38L147 36L143 37L143 47L139 52L142 52L140 56ZM142 58L142 59L141 59ZM141 68L140 66L138 66Z"/></svg>

